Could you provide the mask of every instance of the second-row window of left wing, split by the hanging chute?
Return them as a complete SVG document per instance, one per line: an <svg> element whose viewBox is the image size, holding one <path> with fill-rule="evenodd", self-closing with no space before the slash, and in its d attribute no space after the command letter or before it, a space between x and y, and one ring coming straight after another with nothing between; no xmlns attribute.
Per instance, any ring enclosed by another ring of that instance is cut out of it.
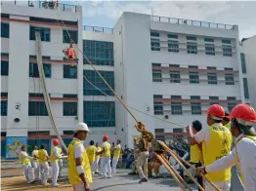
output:
<svg viewBox="0 0 256 191"><path fill-rule="evenodd" d="M51 63L43 63L44 75L46 78L52 76L52 65ZM29 77L39 78L38 65L34 62L29 62Z"/></svg>

